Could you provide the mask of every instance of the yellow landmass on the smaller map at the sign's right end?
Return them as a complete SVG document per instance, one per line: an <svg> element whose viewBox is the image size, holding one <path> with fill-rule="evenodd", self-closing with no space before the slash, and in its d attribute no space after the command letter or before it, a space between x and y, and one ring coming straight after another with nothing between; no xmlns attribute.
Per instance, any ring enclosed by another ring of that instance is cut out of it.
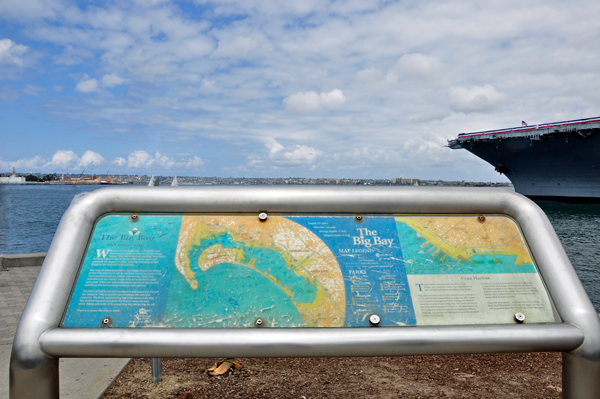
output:
<svg viewBox="0 0 600 399"><path fill-rule="evenodd" d="M517 264L533 263L517 224L504 216L486 216L484 221L477 216L410 216L396 220L421 234L436 251L459 261L476 254L497 254L515 255Z"/></svg>

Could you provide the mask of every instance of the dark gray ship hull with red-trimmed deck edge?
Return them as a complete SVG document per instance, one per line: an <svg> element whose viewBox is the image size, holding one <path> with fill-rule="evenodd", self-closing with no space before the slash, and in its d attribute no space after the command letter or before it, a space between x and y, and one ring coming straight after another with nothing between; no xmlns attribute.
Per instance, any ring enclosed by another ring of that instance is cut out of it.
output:
<svg viewBox="0 0 600 399"><path fill-rule="evenodd" d="M487 161L531 199L600 203L600 117L461 133L448 147Z"/></svg>

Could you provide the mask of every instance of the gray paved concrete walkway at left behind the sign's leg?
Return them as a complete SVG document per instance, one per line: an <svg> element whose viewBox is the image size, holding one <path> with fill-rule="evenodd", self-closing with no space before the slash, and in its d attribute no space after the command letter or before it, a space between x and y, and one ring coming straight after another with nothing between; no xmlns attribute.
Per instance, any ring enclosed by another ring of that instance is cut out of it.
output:
<svg viewBox="0 0 600 399"><path fill-rule="evenodd" d="M7 262L8 263L8 262ZM0 399L8 399L8 370L15 330L40 266L0 266ZM60 397L96 399L130 359L61 359Z"/></svg>

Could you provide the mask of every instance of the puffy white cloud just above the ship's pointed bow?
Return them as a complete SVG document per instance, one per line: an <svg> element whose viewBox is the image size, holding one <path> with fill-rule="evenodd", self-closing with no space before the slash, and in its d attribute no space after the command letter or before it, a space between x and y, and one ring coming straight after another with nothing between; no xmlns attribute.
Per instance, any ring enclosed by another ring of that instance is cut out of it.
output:
<svg viewBox="0 0 600 399"><path fill-rule="evenodd" d="M470 89L453 86L448 93L450 95L450 108L465 113L491 112L504 99L504 95L490 84L473 86Z"/></svg>

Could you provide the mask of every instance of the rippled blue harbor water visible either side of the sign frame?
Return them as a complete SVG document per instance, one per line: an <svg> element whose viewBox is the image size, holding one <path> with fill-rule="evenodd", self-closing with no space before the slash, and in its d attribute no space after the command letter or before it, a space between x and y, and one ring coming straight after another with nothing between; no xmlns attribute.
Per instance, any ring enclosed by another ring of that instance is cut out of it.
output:
<svg viewBox="0 0 600 399"><path fill-rule="evenodd" d="M71 200L102 189L78 185L0 185L0 254L46 252ZM538 202L600 312L600 205Z"/></svg>

